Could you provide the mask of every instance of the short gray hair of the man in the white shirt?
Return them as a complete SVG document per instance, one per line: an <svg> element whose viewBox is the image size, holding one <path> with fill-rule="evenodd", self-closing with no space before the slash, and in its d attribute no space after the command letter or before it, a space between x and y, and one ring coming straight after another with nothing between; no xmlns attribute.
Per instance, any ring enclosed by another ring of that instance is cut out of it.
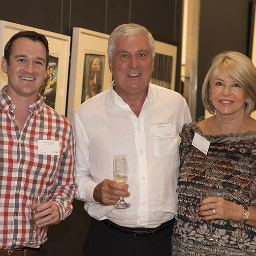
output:
<svg viewBox="0 0 256 256"><path fill-rule="evenodd" d="M128 36L132 38L134 35L143 34L148 38L149 49L152 60L155 58L155 39L153 38L152 34L143 26L128 23L118 26L114 29L108 39L108 46L107 46L107 55L108 59L112 62L114 60L115 48L116 48L116 40L118 38L122 38Z"/></svg>

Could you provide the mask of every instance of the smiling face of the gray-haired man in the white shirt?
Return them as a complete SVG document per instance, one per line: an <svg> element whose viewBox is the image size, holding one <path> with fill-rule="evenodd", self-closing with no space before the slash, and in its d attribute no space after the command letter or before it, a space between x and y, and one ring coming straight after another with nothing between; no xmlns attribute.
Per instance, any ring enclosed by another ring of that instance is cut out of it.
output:
<svg viewBox="0 0 256 256"><path fill-rule="evenodd" d="M127 36L117 39L113 62L109 69L114 77L115 90L118 94L129 96L145 93L154 70L148 39L145 35Z"/></svg>

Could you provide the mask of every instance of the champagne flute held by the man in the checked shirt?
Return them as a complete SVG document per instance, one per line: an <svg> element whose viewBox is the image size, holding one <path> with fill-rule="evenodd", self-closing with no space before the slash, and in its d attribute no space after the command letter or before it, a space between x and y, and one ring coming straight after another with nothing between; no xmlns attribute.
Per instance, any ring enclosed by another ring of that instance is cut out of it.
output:
<svg viewBox="0 0 256 256"><path fill-rule="evenodd" d="M41 194L32 194L32 199L30 201L30 205L29 205L29 221L30 221L30 225L32 227L32 236L31 236L31 240L28 243L24 243L23 245L26 247L31 247L31 248L39 248L40 245L36 244L34 242L34 235L35 235L35 230L37 228L37 225L35 224L35 222L41 218L35 218L35 214L37 214L37 207L39 207L40 205L42 205L43 203L46 202L46 196L45 195L41 195Z"/></svg>

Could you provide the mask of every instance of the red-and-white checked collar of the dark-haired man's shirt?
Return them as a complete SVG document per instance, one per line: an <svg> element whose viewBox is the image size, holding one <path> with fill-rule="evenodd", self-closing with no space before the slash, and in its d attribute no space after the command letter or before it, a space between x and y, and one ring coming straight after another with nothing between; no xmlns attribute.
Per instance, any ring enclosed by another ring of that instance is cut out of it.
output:
<svg viewBox="0 0 256 256"><path fill-rule="evenodd" d="M0 105L3 110L13 112L15 109L15 103L10 96L6 94L7 85L5 85L0 91ZM29 110L34 112L35 115L39 115L43 110L43 97L38 94L37 101L29 106Z"/></svg>

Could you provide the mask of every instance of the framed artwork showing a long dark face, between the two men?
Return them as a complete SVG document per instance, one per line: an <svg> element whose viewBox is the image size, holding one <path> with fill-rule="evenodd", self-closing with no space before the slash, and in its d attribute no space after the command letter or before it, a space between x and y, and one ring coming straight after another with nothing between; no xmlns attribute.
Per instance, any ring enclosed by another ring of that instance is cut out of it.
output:
<svg viewBox="0 0 256 256"><path fill-rule="evenodd" d="M106 90L112 74L108 68L107 43L109 35L73 28L72 54L68 87L67 119L85 100Z"/></svg>

